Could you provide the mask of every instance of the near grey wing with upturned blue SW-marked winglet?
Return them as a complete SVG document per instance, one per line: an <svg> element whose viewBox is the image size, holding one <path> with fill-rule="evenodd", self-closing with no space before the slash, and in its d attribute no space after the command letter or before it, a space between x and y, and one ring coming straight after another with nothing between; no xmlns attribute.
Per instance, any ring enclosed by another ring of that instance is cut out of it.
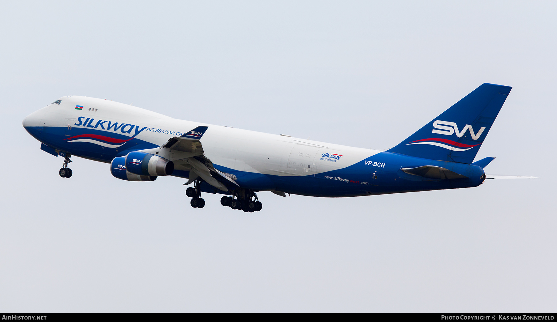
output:
<svg viewBox="0 0 557 322"><path fill-rule="evenodd" d="M203 179L211 186L228 191L224 182L232 183L238 187L236 176L221 172L213 167L213 163L204 155L201 137L208 129L207 126L198 126L197 128L184 133L182 136L174 136L168 139L166 143L159 148L142 150L146 153L159 155L162 158L173 161L177 165L181 165L189 170L189 180L185 184L190 184L197 178Z"/></svg>

